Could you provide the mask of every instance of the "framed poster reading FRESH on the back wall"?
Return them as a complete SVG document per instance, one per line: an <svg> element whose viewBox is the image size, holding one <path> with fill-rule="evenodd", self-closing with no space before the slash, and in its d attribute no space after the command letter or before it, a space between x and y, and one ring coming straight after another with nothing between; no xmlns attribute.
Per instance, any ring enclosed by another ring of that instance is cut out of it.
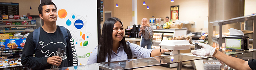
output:
<svg viewBox="0 0 256 70"><path fill-rule="evenodd" d="M175 20L178 20L180 19L179 18L179 7L180 6L171 6L171 20L172 21L175 21Z"/></svg>

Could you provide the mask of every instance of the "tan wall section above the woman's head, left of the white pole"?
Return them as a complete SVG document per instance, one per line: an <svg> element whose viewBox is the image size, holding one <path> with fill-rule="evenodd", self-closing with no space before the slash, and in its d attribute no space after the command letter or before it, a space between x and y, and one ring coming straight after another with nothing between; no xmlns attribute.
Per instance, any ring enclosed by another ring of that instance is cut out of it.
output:
<svg viewBox="0 0 256 70"><path fill-rule="evenodd" d="M112 12L112 17L119 18L124 28L130 26L130 22L133 21L132 16L132 0L102 0L103 1L103 13ZM115 7L116 3L119 7ZM105 16L105 14L103 14ZM103 18L105 20L107 18ZM103 22L101 22L103 26Z"/></svg>

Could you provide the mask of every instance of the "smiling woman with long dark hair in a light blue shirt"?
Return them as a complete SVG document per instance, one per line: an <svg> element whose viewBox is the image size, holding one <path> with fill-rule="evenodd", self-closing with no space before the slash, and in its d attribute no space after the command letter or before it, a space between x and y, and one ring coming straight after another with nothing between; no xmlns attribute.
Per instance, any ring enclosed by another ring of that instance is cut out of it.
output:
<svg viewBox="0 0 256 70"><path fill-rule="evenodd" d="M87 64L123 61L132 59L134 56L154 57L161 56L164 52L171 52L161 48L154 50L142 48L137 44L126 42L124 35L122 22L118 18L108 18L102 27L100 43L92 51Z"/></svg>

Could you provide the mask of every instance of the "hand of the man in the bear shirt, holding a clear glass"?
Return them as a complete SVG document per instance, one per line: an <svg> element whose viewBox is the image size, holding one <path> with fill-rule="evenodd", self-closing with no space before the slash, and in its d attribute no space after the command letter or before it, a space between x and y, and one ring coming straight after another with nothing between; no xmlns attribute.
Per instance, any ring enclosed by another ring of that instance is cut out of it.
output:
<svg viewBox="0 0 256 70"><path fill-rule="evenodd" d="M62 58L60 56L52 56L52 57L47 58L47 63L59 66L62 62L61 59Z"/></svg>

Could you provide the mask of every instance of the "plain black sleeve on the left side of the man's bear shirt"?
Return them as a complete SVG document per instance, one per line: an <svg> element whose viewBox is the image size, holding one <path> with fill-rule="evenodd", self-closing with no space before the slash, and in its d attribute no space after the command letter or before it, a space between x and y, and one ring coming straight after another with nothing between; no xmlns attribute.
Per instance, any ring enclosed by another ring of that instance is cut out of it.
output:
<svg viewBox="0 0 256 70"><path fill-rule="evenodd" d="M49 65L47 57L34 57L34 51L33 32L31 32L22 51L21 64L32 69L41 69Z"/></svg>

